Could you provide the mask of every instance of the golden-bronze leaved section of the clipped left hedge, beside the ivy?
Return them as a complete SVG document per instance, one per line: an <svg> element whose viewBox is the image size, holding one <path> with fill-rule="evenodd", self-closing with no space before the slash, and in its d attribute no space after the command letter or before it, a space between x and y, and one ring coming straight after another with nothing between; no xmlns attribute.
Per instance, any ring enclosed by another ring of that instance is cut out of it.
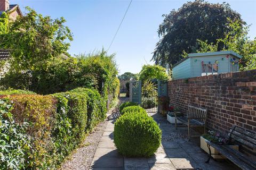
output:
<svg viewBox="0 0 256 170"><path fill-rule="evenodd" d="M54 145L51 138L51 131L54 126L55 99L51 96L41 95L11 95L2 96L10 100L13 109L11 113L15 123L23 124L28 122L26 135L30 137L31 148L26 163L27 169L46 168L55 165L52 160ZM25 150L21 150L25 152Z"/></svg>

